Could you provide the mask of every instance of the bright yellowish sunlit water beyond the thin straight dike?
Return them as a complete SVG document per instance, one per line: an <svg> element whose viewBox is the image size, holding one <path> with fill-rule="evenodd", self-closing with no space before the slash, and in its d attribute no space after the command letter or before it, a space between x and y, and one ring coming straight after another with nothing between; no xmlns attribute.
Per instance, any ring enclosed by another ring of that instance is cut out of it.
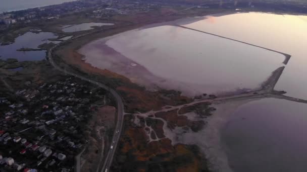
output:
<svg viewBox="0 0 307 172"><path fill-rule="evenodd" d="M292 55L275 88L307 99L307 16L242 13L191 20L179 24Z"/></svg>

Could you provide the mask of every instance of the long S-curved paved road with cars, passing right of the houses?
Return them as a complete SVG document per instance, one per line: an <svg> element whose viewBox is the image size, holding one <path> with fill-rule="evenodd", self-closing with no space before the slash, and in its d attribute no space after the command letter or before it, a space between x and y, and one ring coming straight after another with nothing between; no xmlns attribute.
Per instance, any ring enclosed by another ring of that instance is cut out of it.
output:
<svg viewBox="0 0 307 172"><path fill-rule="evenodd" d="M85 36L85 35L88 35L88 34L91 34L91 33L93 33L93 32L83 34L83 35L79 35L77 37L68 39L68 40L63 41L63 42L55 45L54 47L50 48L50 50L48 51L48 60L49 60L50 64L52 64L56 69L58 69L62 72L65 72L66 74L70 74L72 76L78 77L82 80L86 80L86 81L88 81L92 84L97 85L100 88L103 88L103 89L109 91L114 96L114 98L116 99L116 102L117 102L117 123L116 123L116 127L114 129L114 134L113 134L113 138L112 138L112 142L111 142L112 149L110 147L109 152L108 152L108 154L105 158L104 166L103 166L103 168L101 168L101 171L105 172L105 171L109 171L108 169L110 169L110 167L112 165L112 160L113 160L113 157L114 157L114 154L115 154L117 143L120 139L120 133L122 132L122 128L123 128L124 104L123 104L122 98L120 97L120 95L115 90L109 88L107 85L105 85L103 83L97 82L95 80L91 80L91 79L86 78L84 76L81 76L81 75L75 74L73 72L69 72L69 71L62 69L60 66L58 66L55 63L55 61L53 60L53 56L52 56L52 53L55 50L55 48L59 47L60 45L64 44L65 42L70 41L70 40L74 40L76 38L79 38L79 37L82 37L82 36ZM98 164L98 168L100 166L101 166L101 164ZM80 171L80 167L77 167L77 172L79 172L79 171Z"/></svg>

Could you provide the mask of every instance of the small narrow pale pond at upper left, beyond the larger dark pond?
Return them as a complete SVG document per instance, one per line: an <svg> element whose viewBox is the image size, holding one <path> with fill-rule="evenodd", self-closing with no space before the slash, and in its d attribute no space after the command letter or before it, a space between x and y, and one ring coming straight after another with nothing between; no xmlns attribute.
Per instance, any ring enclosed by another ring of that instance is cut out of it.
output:
<svg viewBox="0 0 307 172"><path fill-rule="evenodd" d="M110 26L113 23L82 23L79 25L67 25L63 26L63 32L78 32L93 29L93 26Z"/></svg>

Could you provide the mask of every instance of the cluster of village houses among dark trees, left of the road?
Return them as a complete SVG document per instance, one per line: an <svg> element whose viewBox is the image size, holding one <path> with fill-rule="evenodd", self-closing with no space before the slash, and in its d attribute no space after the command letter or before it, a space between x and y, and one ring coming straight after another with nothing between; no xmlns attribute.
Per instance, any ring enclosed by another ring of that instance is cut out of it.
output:
<svg viewBox="0 0 307 172"><path fill-rule="evenodd" d="M105 91L77 78L29 86L0 98L0 167L23 171L73 170L93 104Z"/></svg>

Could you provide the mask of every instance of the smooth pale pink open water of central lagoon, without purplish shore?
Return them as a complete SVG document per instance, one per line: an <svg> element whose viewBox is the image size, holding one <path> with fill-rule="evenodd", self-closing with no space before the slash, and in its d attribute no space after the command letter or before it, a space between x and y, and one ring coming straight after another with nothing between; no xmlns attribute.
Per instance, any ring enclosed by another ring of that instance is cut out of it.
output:
<svg viewBox="0 0 307 172"><path fill-rule="evenodd" d="M128 31L106 44L151 73L183 82L198 94L259 88L285 58L276 52L177 26Z"/></svg>

